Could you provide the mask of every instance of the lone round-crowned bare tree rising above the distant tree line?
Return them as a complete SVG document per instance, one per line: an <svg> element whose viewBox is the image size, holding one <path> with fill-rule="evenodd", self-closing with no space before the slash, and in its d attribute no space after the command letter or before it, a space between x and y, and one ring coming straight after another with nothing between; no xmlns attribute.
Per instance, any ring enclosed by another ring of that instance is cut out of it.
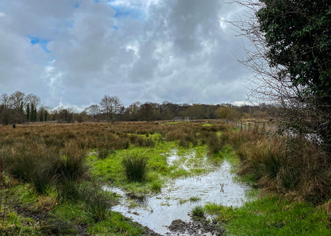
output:
<svg viewBox="0 0 331 236"><path fill-rule="evenodd" d="M121 111L122 103L117 96L105 95L100 102L101 111L106 114L108 122L114 122Z"/></svg>

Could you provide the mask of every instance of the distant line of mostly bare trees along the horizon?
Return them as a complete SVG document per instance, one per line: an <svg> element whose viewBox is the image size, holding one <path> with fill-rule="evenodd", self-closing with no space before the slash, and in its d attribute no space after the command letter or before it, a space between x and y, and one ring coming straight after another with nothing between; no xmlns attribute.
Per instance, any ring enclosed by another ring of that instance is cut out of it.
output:
<svg viewBox="0 0 331 236"><path fill-rule="evenodd" d="M39 96L14 92L0 96L0 123L8 125L23 122L84 122L84 121L152 121L172 120L174 117L190 117L195 119L236 120L239 118L264 117L266 105L234 106L223 103L219 105L132 103L124 107L117 96L105 95L99 105L94 104L78 111L70 107L51 109L41 103Z"/></svg>

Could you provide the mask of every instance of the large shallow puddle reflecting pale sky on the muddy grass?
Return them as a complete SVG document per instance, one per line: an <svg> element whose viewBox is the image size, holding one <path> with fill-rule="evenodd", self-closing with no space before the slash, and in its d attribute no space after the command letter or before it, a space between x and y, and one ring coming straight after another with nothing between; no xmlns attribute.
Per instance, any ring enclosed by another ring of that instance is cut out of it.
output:
<svg viewBox="0 0 331 236"><path fill-rule="evenodd" d="M168 164L176 162L170 155ZM195 206L203 206L207 202L222 204L223 206L241 206L245 201L245 191L248 186L234 182L230 172L231 165L224 161L221 167L205 175L171 180L161 193L143 200L134 200L121 189L104 187L106 191L113 191L123 196L121 204L114 206L112 211L118 211L133 221L154 230L162 235L172 235L168 226L174 219L190 221L190 211ZM191 202L190 197L199 201ZM134 208L132 201L135 202ZM173 234L173 235L178 235Z"/></svg>

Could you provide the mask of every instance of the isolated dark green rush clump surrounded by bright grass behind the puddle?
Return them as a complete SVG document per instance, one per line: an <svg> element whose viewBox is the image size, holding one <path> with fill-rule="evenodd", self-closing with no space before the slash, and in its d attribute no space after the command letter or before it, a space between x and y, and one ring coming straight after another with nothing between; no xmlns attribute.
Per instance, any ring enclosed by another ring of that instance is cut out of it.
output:
<svg viewBox="0 0 331 236"><path fill-rule="evenodd" d="M144 156L128 155L123 158L122 166L129 182L143 182L148 173L148 160Z"/></svg>

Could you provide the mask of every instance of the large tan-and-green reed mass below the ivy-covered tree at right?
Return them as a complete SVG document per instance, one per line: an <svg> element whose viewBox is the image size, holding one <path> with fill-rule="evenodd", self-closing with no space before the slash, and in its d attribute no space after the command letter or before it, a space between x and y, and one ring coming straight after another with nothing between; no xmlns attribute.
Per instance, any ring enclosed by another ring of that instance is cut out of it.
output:
<svg viewBox="0 0 331 236"><path fill-rule="evenodd" d="M239 174L252 175L270 191L296 193L315 204L331 197L330 157L318 144L293 137L261 138L249 131L233 133L230 140L238 144L234 146L241 159Z"/></svg>

